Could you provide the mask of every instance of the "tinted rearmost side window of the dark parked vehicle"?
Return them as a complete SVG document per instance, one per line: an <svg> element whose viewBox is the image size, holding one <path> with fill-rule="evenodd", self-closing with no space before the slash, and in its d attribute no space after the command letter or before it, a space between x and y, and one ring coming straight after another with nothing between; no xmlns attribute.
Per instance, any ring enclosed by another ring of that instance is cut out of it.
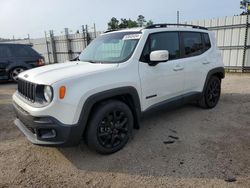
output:
<svg viewBox="0 0 250 188"><path fill-rule="evenodd" d="M13 45L12 53L15 57L36 57L38 54L29 46L25 45Z"/></svg>

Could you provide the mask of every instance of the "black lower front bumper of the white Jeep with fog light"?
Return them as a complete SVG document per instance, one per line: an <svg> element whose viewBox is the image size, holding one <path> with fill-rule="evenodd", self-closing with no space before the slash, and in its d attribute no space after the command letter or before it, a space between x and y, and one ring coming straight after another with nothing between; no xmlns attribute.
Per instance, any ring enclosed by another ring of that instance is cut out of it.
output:
<svg viewBox="0 0 250 188"><path fill-rule="evenodd" d="M65 125L53 117L34 117L13 103L15 125L33 144L45 146L73 146L82 139L80 125Z"/></svg>

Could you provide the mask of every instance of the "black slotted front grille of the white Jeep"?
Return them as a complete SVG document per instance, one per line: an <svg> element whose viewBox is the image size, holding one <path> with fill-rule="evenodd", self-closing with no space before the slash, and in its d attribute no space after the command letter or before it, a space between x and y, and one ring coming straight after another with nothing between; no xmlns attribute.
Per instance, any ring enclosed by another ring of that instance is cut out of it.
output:
<svg viewBox="0 0 250 188"><path fill-rule="evenodd" d="M24 98L31 102L35 102L36 84L19 79L17 90Z"/></svg>

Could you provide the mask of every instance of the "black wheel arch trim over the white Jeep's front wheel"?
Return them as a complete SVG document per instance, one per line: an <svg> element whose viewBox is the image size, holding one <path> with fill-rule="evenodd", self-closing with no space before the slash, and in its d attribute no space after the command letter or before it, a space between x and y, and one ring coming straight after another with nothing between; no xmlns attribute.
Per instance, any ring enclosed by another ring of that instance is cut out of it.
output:
<svg viewBox="0 0 250 188"><path fill-rule="evenodd" d="M133 104L127 104L134 116L134 128L140 127L140 118L141 118L141 105L140 105L140 98L138 95L137 90L134 87L120 87L110 90L105 90L96 94L91 95L85 101L82 111L80 114L80 118L78 121L78 125L81 127L81 132L84 134L89 117L91 115L91 111L93 110L94 106L97 103L100 103L105 100L109 99L116 99L119 97L129 96L131 97ZM133 106L131 106L133 105Z"/></svg>

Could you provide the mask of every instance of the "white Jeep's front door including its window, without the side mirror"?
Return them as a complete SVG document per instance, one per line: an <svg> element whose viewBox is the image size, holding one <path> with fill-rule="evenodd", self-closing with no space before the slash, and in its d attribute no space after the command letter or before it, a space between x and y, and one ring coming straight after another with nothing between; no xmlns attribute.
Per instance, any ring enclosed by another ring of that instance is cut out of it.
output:
<svg viewBox="0 0 250 188"><path fill-rule="evenodd" d="M168 50L169 61L150 66L150 53L156 50ZM182 63L179 32L149 35L139 63L144 109L183 94L185 77Z"/></svg>

